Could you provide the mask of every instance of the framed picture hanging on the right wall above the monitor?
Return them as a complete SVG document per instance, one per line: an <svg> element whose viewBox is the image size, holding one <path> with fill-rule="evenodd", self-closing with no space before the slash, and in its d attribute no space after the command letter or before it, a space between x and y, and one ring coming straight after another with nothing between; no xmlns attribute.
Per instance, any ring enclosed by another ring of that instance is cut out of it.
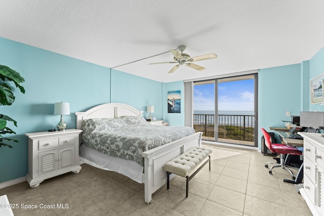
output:
<svg viewBox="0 0 324 216"><path fill-rule="evenodd" d="M324 100L323 85L324 73L310 80L310 102L311 104L319 104Z"/></svg>

